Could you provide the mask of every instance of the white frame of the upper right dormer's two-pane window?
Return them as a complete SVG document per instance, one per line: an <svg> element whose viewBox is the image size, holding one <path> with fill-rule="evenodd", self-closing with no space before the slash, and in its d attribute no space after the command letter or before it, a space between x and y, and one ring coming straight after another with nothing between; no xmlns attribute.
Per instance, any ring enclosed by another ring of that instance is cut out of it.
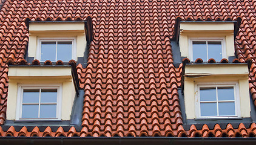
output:
<svg viewBox="0 0 256 145"><path fill-rule="evenodd" d="M222 59L227 59L225 37L192 37L192 38L189 38L189 59L191 61L195 61L195 59L193 58L193 41L221 41ZM206 46L208 47L208 45ZM207 49L207 57L208 57L208 49ZM209 59L211 58L207 58L207 61Z"/></svg>

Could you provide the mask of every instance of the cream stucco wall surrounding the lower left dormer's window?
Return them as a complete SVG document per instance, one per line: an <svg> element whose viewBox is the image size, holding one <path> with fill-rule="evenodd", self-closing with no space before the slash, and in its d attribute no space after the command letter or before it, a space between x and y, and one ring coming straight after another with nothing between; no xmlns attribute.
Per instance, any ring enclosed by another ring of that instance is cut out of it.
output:
<svg viewBox="0 0 256 145"><path fill-rule="evenodd" d="M70 120L75 86L70 66L10 66L8 71L8 101L7 120L16 120L17 97L19 85L49 85L61 86L61 120Z"/></svg>

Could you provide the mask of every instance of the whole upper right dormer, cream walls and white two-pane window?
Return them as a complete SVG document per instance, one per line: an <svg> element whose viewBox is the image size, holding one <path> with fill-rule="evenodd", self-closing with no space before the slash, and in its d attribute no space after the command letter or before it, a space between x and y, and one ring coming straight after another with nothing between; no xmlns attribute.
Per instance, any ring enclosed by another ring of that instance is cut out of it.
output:
<svg viewBox="0 0 256 145"><path fill-rule="evenodd" d="M202 59L234 59L234 22L181 22L181 57L191 61Z"/></svg>

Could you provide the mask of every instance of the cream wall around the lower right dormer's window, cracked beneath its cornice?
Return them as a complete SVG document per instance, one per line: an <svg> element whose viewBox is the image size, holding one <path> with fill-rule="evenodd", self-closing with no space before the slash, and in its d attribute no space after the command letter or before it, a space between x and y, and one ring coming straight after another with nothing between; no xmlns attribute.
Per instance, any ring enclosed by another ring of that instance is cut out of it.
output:
<svg viewBox="0 0 256 145"><path fill-rule="evenodd" d="M240 117L251 117L248 85L248 65L240 64L192 64L185 66L184 101L187 119L196 117L196 86L200 84L238 83Z"/></svg>

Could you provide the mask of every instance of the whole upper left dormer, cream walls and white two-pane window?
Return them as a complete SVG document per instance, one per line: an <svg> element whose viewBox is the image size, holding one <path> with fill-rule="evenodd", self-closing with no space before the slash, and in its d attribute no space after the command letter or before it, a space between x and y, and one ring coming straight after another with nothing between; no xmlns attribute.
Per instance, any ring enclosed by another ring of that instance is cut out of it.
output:
<svg viewBox="0 0 256 145"><path fill-rule="evenodd" d="M29 62L50 60L69 62L84 58L86 51L86 24L78 22L30 22Z"/></svg>

